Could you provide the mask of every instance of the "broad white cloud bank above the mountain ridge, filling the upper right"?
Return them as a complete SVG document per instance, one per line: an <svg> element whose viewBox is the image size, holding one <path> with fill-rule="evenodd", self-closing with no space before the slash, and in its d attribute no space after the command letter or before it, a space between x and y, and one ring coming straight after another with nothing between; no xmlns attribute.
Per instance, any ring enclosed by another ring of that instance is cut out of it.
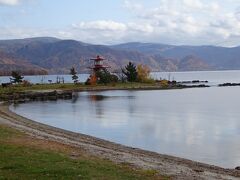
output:
<svg viewBox="0 0 240 180"><path fill-rule="evenodd" d="M143 41L234 46L240 42L240 8L236 9L235 3L235 7L225 5L229 1L158 0L159 5L151 7L141 4L143 0L126 0L123 6L132 18L125 21L79 21L68 28L55 30L1 28L0 38L8 34L18 38L57 36L98 44Z"/></svg>

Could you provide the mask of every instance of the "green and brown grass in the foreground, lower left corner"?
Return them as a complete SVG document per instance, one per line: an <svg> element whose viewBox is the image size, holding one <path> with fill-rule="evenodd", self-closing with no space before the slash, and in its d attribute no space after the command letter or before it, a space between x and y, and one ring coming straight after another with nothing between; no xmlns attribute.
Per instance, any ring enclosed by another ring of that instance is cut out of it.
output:
<svg viewBox="0 0 240 180"><path fill-rule="evenodd" d="M0 125L0 179L168 179Z"/></svg>

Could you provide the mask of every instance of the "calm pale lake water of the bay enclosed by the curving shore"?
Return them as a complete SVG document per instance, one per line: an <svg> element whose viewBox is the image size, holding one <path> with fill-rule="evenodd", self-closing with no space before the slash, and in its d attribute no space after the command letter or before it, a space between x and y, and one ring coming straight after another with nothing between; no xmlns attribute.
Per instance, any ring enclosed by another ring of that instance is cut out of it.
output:
<svg viewBox="0 0 240 180"><path fill-rule="evenodd" d="M70 131L234 168L240 165L239 92L240 87L80 92L73 100L11 109Z"/></svg>

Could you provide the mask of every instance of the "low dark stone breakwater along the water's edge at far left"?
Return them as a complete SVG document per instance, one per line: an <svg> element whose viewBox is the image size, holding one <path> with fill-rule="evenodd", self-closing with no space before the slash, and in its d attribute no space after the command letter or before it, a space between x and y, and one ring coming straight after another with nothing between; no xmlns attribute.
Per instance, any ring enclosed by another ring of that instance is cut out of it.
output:
<svg viewBox="0 0 240 180"><path fill-rule="evenodd" d="M0 95L0 101L7 102L25 102L25 101L45 101L58 99L72 99L72 91L29 91L8 93Z"/></svg>

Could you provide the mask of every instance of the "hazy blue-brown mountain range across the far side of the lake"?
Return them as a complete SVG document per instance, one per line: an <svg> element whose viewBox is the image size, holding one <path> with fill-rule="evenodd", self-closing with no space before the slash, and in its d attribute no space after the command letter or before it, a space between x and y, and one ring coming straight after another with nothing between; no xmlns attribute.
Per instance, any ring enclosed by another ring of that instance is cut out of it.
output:
<svg viewBox="0 0 240 180"><path fill-rule="evenodd" d="M38 37L0 40L0 75L12 70L24 74L68 74L89 72L96 55L105 57L111 71L120 70L129 61L146 64L152 71L201 71L240 69L240 46L175 46L131 42L118 45L94 45L75 40Z"/></svg>

